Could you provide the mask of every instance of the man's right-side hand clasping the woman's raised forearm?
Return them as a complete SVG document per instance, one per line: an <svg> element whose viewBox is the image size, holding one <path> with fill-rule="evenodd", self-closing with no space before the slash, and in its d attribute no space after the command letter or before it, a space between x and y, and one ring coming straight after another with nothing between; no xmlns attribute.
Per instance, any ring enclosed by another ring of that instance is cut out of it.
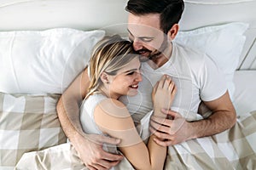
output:
<svg viewBox="0 0 256 170"><path fill-rule="evenodd" d="M157 144L168 146L193 139L193 128L190 122L187 122L183 116L175 111L161 111L171 116L172 119L151 116L149 129L151 133L158 137L154 140Z"/></svg>

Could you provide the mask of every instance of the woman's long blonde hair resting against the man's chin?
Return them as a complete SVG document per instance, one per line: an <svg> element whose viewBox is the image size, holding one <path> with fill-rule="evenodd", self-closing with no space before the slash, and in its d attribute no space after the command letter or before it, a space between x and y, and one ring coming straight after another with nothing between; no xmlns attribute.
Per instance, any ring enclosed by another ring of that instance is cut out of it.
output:
<svg viewBox="0 0 256 170"><path fill-rule="evenodd" d="M97 42L90 57L90 86L85 98L100 92L103 84L102 72L114 76L117 71L128 65L135 57L138 57L138 54L132 48L132 43L119 37L119 35L104 37L100 42Z"/></svg>

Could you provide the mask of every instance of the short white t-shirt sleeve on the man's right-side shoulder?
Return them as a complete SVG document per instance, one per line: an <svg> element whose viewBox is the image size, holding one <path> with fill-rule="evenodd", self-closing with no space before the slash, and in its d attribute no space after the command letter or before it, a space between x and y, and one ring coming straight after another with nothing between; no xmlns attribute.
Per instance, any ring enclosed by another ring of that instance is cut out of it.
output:
<svg viewBox="0 0 256 170"><path fill-rule="evenodd" d="M201 67L200 82L200 96L203 101L218 99L227 91L224 73L208 56L205 56L205 62Z"/></svg>

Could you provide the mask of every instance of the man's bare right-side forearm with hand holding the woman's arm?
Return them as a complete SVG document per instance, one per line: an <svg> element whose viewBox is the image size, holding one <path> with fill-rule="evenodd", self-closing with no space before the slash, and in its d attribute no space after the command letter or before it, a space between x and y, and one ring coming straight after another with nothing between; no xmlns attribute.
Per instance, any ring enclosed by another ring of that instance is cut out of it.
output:
<svg viewBox="0 0 256 170"><path fill-rule="evenodd" d="M218 99L204 103L212 111L212 115L200 121L187 122L174 111L163 111L165 114L172 116L173 120L152 116L151 131L160 138L156 142L163 146L179 144L188 139L221 133L234 126L236 123L236 111L228 92ZM159 124L165 126L159 128ZM154 128L158 128L158 131L162 133L155 132ZM163 141L162 139L166 140Z"/></svg>

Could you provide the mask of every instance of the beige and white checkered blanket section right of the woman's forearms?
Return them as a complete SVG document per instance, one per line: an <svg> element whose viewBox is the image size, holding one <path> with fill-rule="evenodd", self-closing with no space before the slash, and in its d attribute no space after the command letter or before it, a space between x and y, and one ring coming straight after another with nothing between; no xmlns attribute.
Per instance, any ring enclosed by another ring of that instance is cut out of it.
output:
<svg viewBox="0 0 256 170"><path fill-rule="evenodd" d="M256 111L230 130L169 147L166 169L256 169Z"/></svg>

